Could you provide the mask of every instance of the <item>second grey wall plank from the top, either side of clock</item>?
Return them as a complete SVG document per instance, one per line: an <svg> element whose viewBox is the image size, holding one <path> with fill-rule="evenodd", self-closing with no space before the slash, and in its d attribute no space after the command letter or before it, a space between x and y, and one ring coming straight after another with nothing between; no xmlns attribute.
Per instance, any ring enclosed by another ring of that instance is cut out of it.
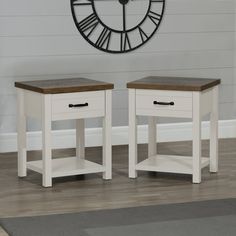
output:
<svg viewBox="0 0 236 236"><path fill-rule="evenodd" d="M0 17L0 28L4 37L78 34L72 16ZM164 17L158 33L228 31L234 31L234 14L190 14Z"/></svg>

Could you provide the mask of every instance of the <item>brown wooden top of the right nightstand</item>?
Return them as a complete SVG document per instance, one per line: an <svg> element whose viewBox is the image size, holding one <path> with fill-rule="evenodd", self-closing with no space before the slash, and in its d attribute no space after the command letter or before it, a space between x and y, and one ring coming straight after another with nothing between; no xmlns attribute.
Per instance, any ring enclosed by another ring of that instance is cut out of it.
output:
<svg viewBox="0 0 236 236"><path fill-rule="evenodd" d="M127 88L203 91L220 84L220 79L149 76L127 83Z"/></svg>

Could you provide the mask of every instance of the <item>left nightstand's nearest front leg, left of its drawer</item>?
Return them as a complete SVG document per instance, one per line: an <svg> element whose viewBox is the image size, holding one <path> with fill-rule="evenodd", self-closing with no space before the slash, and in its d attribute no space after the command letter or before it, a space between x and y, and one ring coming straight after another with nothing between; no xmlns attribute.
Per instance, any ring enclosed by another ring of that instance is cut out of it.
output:
<svg viewBox="0 0 236 236"><path fill-rule="evenodd" d="M51 95L42 95L43 186L52 186Z"/></svg>

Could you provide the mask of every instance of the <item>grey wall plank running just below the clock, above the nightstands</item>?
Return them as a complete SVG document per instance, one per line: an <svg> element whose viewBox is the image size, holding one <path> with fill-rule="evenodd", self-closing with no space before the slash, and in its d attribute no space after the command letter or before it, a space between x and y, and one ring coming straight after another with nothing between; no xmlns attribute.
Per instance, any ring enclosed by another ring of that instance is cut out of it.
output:
<svg viewBox="0 0 236 236"><path fill-rule="evenodd" d="M0 58L0 77L233 67L233 51Z"/></svg>

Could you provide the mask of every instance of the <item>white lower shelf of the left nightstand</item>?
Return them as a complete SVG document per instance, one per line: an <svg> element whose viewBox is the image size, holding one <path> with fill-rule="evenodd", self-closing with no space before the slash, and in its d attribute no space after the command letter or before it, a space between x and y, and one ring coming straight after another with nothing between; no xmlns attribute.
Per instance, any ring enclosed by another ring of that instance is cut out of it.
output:
<svg viewBox="0 0 236 236"><path fill-rule="evenodd" d="M38 173L43 173L43 162L27 162L27 168ZM104 172L105 168L97 163L77 157L58 158L52 160L52 177L81 175Z"/></svg>

